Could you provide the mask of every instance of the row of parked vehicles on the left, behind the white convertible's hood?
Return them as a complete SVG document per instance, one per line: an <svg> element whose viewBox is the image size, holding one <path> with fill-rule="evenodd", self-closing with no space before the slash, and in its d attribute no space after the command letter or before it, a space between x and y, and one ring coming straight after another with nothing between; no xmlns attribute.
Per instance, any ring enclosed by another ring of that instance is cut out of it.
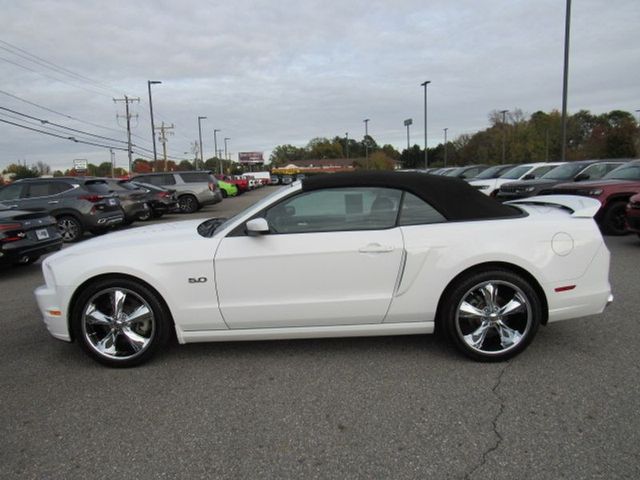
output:
<svg viewBox="0 0 640 480"><path fill-rule="evenodd" d="M192 213L238 192L208 171L18 180L0 188L0 264L29 264L85 232Z"/></svg>

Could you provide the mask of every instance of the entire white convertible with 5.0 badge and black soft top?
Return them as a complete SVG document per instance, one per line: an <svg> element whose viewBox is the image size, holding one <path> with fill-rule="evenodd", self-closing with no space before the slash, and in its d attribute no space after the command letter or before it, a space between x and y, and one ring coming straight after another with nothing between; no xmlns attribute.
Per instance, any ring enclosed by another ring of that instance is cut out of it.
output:
<svg viewBox="0 0 640 480"><path fill-rule="evenodd" d="M312 177L228 220L112 233L43 261L51 334L96 360L180 343L446 332L504 360L548 322L601 313L609 251L589 198L503 205L420 173Z"/></svg>

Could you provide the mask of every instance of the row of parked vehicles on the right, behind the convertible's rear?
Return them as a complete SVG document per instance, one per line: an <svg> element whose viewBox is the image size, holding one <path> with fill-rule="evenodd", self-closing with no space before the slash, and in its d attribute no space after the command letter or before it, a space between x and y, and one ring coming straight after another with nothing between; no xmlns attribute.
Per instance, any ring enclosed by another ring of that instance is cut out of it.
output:
<svg viewBox="0 0 640 480"><path fill-rule="evenodd" d="M602 204L595 219L603 233L640 234L639 160L581 160L521 165L471 165L428 172L467 180L504 202L535 195L581 195ZM635 197L634 197L635 195Z"/></svg>

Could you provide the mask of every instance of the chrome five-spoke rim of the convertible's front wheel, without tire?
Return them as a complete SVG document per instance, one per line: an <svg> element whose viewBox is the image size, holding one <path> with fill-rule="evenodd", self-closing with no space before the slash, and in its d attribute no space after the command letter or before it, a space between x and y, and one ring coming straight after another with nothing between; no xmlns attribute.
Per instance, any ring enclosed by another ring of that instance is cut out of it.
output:
<svg viewBox="0 0 640 480"><path fill-rule="evenodd" d="M98 355L110 360L137 357L151 344L156 321L149 303L125 288L105 288L85 304L82 333Z"/></svg>

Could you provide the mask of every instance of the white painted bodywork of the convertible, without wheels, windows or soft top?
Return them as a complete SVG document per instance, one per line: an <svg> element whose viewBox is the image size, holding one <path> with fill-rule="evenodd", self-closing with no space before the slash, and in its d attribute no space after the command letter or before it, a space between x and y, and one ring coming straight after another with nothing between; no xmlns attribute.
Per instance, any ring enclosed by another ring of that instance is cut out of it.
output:
<svg viewBox="0 0 640 480"><path fill-rule="evenodd" d="M47 328L71 340L74 292L111 274L154 288L181 343L430 333L447 285L486 263L528 272L544 292L550 322L599 313L610 298L609 252L587 215L594 206L566 197L542 197L546 205L527 199L519 207L526 215L509 219L228 236L300 189L299 182L281 188L211 238L197 233L200 221L184 221L112 233L46 258L46 285L36 297Z"/></svg>

